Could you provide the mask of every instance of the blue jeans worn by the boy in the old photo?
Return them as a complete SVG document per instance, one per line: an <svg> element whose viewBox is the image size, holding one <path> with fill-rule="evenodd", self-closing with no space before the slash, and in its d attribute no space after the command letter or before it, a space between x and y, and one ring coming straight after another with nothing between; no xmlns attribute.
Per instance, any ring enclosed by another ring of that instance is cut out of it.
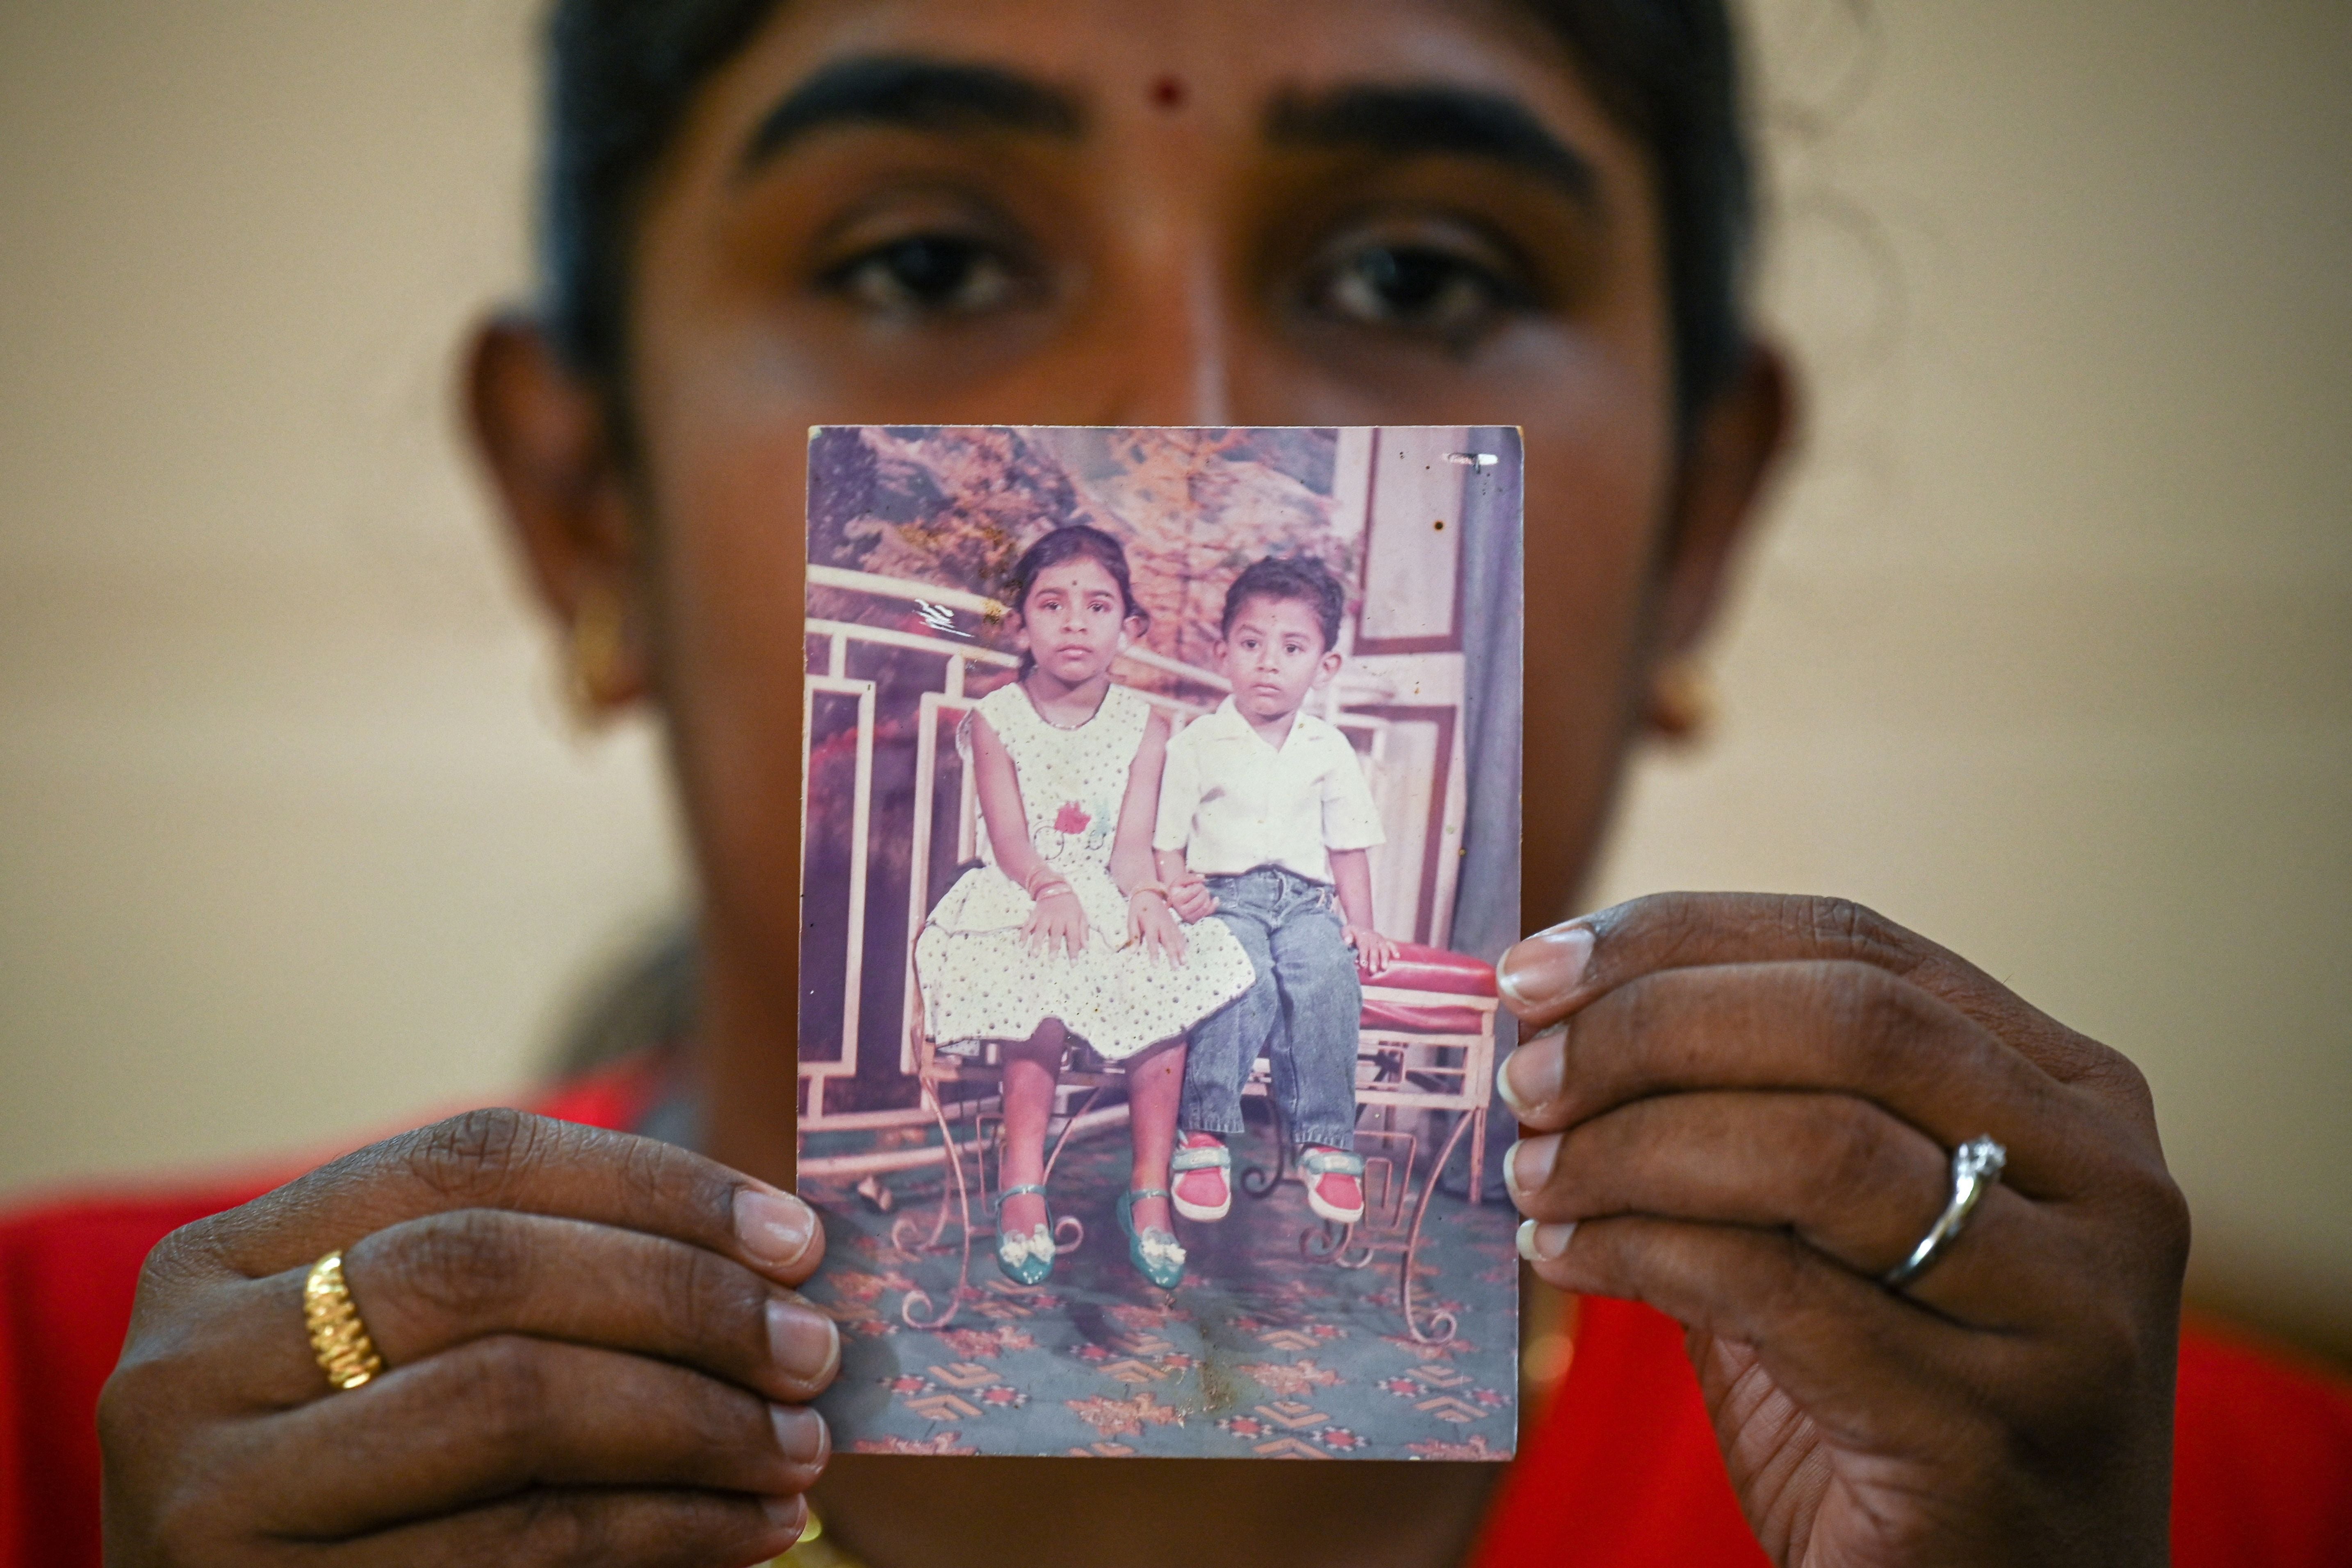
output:
<svg viewBox="0 0 2352 1568"><path fill-rule="evenodd" d="M1256 985L1192 1027L1183 1070L1188 1133L1242 1133L1242 1084L1263 1053L1294 1145L1355 1147L1355 1046L1364 983L1331 886L1279 865L1209 877L1216 914L1258 971Z"/></svg>

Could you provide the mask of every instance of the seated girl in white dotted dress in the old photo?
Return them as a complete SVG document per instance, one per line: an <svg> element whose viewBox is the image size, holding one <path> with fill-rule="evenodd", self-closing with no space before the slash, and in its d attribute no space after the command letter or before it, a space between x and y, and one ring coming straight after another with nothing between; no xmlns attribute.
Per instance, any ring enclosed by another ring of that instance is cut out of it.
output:
<svg viewBox="0 0 2352 1568"><path fill-rule="evenodd" d="M1110 663L1145 628L1120 541L1054 529L1014 567L1011 599L1021 679L981 698L957 736L981 799L981 865L915 940L924 1027L943 1051L1000 1046L997 1262L1018 1284L1054 1269L1042 1180L1063 1051L1082 1039L1124 1063L1134 1168L1120 1225L1136 1269L1171 1288L1183 1279L1167 1197L1183 1032L1256 973L1218 922L1178 926L1152 882L1169 722L1110 684Z"/></svg>

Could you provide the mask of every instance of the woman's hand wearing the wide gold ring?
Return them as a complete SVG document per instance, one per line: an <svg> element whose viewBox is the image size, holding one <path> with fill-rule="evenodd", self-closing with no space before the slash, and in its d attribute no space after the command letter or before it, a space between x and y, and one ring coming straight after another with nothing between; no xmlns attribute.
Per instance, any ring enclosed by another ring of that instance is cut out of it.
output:
<svg viewBox="0 0 2352 1568"><path fill-rule="evenodd" d="M303 1279L343 1253L388 1371L336 1392ZM99 1399L106 1561L750 1563L828 1458L840 1333L800 1199L487 1110L348 1154L148 1255Z"/></svg>

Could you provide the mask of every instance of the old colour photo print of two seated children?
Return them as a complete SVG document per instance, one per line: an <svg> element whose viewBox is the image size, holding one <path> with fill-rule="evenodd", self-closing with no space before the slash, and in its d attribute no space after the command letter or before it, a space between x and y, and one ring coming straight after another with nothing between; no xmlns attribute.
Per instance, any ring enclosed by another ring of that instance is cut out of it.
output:
<svg viewBox="0 0 2352 1568"><path fill-rule="evenodd" d="M1519 433L809 435L844 1453L1505 1460Z"/></svg>

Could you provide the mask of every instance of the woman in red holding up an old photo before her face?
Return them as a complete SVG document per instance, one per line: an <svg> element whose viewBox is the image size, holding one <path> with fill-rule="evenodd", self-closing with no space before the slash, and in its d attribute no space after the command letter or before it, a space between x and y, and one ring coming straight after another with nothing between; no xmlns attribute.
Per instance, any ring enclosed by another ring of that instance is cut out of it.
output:
<svg viewBox="0 0 2352 1568"><path fill-rule="evenodd" d="M118 1568L717 1568L800 1533L837 1366L790 1295L821 1234L776 1190L811 423L1522 425L1536 926L1788 440L1722 0L564 0L550 61L546 301L482 331L473 423L579 684L666 717L701 1147L633 1135L652 1095L607 1081L548 1107L612 1131L477 1114L266 1197L16 1220L19 1561L96 1561L94 1403ZM2352 1406L2183 1342L2187 1215L2122 1053L1823 898L1639 900L1503 978L1545 1030L1505 1065L1526 1251L1583 1300L1508 1474L844 1455L828 1540L873 1568L2343 1561ZM1978 1138L2006 1171L1955 1234ZM327 1380L306 1286L386 1371Z"/></svg>

